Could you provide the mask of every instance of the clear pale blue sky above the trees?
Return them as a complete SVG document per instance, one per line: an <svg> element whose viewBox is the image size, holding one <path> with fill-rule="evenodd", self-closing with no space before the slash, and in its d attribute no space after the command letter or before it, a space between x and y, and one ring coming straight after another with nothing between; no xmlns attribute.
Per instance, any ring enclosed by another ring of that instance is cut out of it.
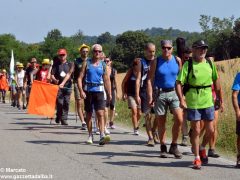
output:
<svg viewBox="0 0 240 180"><path fill-rule="evenodd" d="M240 17L239 0L0 0L0 34L40 42L57 28L64 36L116 35L151 27L198 31L201 14Z"/></svg>

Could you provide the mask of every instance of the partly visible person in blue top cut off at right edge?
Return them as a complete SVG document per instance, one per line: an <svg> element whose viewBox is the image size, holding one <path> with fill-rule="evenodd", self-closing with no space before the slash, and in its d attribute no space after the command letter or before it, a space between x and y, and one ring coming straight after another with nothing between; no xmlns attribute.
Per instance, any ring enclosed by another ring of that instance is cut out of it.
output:
<svg viewBox="0 0 240 180"><path fill-rule="evenodd" d="M237 163L236 163L236 167L240 168L240 109L239 109L239 105L240 105L240 94L239 94L239 90L240 90L240 73L238 73L235 77L235 80L233 82L233 86L232 86L232 104L233 104L233 108L235 110L235 114L236 114L236 134L237 134Z"/></svg>

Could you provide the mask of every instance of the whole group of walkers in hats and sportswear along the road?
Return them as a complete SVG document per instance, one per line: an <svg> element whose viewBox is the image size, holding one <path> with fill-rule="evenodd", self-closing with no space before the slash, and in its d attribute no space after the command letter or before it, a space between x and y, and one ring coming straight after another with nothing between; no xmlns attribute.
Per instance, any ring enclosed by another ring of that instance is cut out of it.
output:
<svg viewBox="0 0 240 180"><path fill-rule="evenodd" d="M208 45L205 41L199 40L191 48L185 47L181 58L173 55L171 40L162 40L160 45L162 53L156 57L156 45L147 43L144 56L133 60L121 84L122 99L128 101L131 109L133 134L139 135L143 113L147 145L152 147L160 143L161 158L173 154L181 159L178 138L182 133L181 145L187 146L190 138L195 156L193 168L200 169L202 164L208 163L208 157L219 157L215 150L218 111L223 111L219 75L214 63L206 57ZM104 145L110 141L108 128L115 128L115 101L119 99L117 71L100 44L94 44L92 48L82 44L79 54L80 57L71 62L67 59L67 50L59 49L54 61L44 59L40 66L36 58L32 58L26 70L22 63L16 63L15 76L10 78L12 106L20 110L27 107L34 80L59 85L55 122L68 125L70 97L74 90L76 112L82 129L88 130L86 143L93 143L93 126L96 126L99 145ZM6 82L6 70L0 74L3 103L4 79ZM237 118L237 167L240 167L240 74L236 76L232 90ZM174 119L169 150L166 145L168 112ZM189 131L187 120L190 121Z"/></svg>

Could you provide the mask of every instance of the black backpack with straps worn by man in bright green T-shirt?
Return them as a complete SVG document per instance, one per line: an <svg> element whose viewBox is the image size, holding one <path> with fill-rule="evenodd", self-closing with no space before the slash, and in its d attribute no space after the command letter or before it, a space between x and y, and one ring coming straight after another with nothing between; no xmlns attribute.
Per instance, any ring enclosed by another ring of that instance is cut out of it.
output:
<svg viewBox="0 0 240 180"><path fill-rule="evenodd" d="M211 60L206 59L207 63L210 65L211 69L213 69L213 63ZM186 95L186 93L189 91L189 89L194 88L197 90L197 93L199 93L199 89L205 89L205 88L209 88L212 87L212 85L207 85L207 86L192 86L189 84L189 74L190 72L193 70L193 60L189 59L188 60L188 73L187 73L187 82L183 85L183 94ZM195 78L194 73L192 74L193 78Z"/></svg>

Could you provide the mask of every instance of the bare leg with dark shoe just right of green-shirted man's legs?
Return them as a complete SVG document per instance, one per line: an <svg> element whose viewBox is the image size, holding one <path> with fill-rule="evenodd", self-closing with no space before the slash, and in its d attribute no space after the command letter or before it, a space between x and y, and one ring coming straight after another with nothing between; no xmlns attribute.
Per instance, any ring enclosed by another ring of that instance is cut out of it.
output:
<svg viewBox="0 0 240 180"><path fill-rule="evenodd" d="M213 136L209 140L209 150L208 150L208 156L209 157L215 157L215 158L219 157L219 154L217 154L216 151L215 151L217 135L218 135L218 130L217 130L218 113L219 113L219 111L216 110L215 114L214 114L214 120L213 120L214 133L213 133Z"/></svg>

